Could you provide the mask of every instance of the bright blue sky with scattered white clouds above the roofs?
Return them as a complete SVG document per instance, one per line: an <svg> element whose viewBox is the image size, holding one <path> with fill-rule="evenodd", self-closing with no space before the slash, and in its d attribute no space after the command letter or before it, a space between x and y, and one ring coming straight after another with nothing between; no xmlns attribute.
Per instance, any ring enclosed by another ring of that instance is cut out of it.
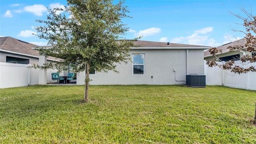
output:
<svg viewBox="0 0 256 144"><path fill-rule="evenodd" d="M116 1L117 2L117 1ZM123 20L130 28L127 39L220 46L244 37L241 8L256 15L256 0L126 0L132 18ZM47 9L66 6L66 0L0 0L0 36L10 36L46 46L47 40L32 35L45 20Z"/></svg>

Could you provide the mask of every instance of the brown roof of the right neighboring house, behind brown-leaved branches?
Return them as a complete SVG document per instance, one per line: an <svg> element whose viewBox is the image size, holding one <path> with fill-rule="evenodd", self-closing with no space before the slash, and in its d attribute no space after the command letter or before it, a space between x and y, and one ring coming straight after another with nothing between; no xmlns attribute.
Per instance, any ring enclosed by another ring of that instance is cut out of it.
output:
<svg viewBox="0 0 256 144"><path fill-rule="evenodd" d="M216 48L221 49L221 50L222 50L222 54L224 54L224 53L226 53L226 52L229 52L228 46L234 46L234 45L238 45L238 46L242 45L242 46L244 46L245 43L246 43L245 38L242 38L242 39L240 39L240 40L236 40L236 41L234 41L234 42L230 42L230 43L228 43L228 44L224 44L224 45L218 46L218 47L216 47ZM208 50L205 51L205 52L204 52L204 57L206 58L206 57L209 57L209 56L212 56L212 55L210 54L210 52L209 52Z"/></svg>

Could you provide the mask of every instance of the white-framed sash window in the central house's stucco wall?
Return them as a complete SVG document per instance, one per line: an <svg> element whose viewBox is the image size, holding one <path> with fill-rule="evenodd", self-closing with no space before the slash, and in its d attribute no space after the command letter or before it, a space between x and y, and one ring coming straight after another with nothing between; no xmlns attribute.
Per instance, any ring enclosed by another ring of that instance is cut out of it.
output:
<svg viewBox="0 0 256 144"><path fill-rule="evenodd" d="M145 54L132 54L133 74L144 74L144 56Z"/></svg>

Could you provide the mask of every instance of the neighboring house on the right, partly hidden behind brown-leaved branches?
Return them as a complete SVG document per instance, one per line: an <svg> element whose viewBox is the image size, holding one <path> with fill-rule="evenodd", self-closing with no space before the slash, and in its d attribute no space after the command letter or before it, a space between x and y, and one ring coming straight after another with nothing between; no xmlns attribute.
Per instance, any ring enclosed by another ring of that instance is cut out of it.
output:
<svg viewBox="0 0 256 144"><path fill-rule="evenodd" d="M218 46L218 49L222 50L222 53L216 54L216 56L221 60L227 62L228 60L240 60L240 56L246 55L246 54L252 54L256 55L256 52L239 52L239 51L233 51L229 52L228 46L234 46L234 45L242 45L246 43L245 38L236 40L234 42L230 42L228 44L224 44L222 46ZM210 54L210 52L207 50L204 52L204 60L213 60L215 57Z"/></svg>

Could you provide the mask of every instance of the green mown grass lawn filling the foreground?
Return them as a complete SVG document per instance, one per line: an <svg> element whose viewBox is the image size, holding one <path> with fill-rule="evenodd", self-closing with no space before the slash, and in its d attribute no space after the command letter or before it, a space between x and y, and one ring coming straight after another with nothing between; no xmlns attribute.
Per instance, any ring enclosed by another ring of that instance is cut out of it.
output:
<svg viewBox="0 0 256 144"><path fill-rule="evenodd" d="M256 143L256 91L223 86L0 89L2 144Z"/></svg>

